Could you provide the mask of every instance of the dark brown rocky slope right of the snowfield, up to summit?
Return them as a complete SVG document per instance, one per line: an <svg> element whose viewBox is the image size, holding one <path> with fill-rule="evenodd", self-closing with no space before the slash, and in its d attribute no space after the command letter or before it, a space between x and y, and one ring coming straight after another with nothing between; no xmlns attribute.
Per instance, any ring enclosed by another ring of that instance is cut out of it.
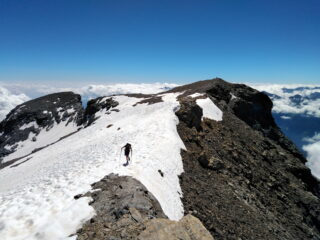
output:
<svg viewBox="0 0 320 240"><path fill-rule="evenodd" d="M185 212L215 239L320 239L319 182L274 123L269 98L221 79L183 90L223 111L222 121L201 121L195 99L180 97Z"/></svg>

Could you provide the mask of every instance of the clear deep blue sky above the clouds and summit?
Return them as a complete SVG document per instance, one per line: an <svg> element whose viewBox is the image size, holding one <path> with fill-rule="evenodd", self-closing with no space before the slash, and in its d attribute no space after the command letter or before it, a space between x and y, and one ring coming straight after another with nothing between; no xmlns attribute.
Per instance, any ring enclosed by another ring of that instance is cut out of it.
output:
<svg viewBox="0 0 320 240"><path fill-rule="evenodd" d="M2 82L320 83L319 0L0 0Z"/></svg>

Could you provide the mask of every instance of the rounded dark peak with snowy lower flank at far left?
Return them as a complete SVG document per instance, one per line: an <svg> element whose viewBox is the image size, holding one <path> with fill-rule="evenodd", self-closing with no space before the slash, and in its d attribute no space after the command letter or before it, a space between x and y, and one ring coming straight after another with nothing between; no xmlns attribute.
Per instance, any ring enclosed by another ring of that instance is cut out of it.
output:
<svg viewBox="0 0 320 240"><path fill-rule="evenodd" d="M0 124L0 162L13 163L76 132L82 111L80 95L72 92L18 105Z"/></svg>

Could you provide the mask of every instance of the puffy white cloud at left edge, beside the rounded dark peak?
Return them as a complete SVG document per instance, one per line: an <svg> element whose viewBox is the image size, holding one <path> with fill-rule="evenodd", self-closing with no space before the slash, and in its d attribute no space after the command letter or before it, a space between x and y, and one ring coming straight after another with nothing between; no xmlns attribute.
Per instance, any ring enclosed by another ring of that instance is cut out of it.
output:
<svg viewBox="0 0 320 240"><path fill-rule="evenodd" d="M0 86L0 121L6 117L11 109L29 99L25 94L13 94Z"/></svg>

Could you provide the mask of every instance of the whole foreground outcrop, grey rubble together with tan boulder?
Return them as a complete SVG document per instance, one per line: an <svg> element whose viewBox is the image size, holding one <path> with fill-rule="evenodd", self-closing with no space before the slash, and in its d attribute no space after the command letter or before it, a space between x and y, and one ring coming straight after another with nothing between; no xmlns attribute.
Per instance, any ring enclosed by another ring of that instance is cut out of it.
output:
<svg viewBox="0 0 320 240"><path fill-rule="evenodd" d="M188 215L181 221L167 219L155 197L131 177L108 175L93 184L91 196L97 215L77 232L85 239L211 240L201 222Z"/></svg>

